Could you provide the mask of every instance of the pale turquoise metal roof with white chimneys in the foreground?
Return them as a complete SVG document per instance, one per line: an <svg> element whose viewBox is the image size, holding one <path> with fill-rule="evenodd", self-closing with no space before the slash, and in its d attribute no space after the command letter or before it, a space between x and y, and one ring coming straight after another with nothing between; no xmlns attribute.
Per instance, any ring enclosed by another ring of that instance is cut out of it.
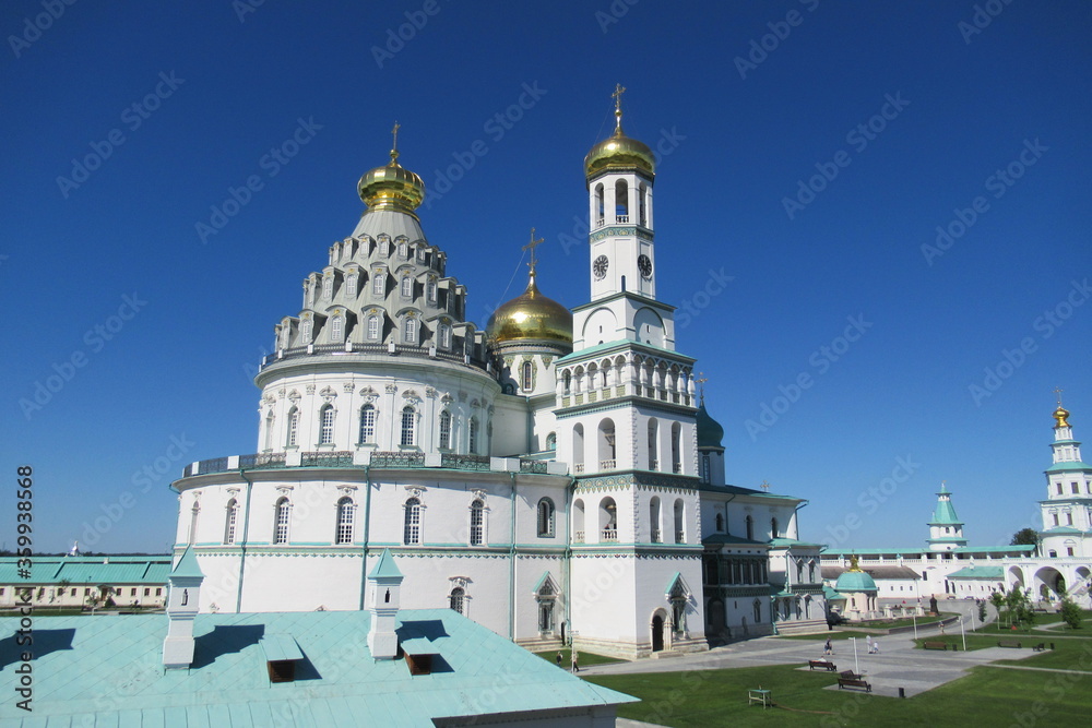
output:
<svg viewBox="0 0 1092 728"><path fill-rule="evenodd" d="M34 713L0 702L0 725L328 728L434 726L434 718L593 707L636 699L569 675L450 609L404 609L399 633L429 642L431 675L376 660L367 611L199 614L188 670L163 669L164 614L51 617L35 623ZM0 640L19 620L0 619ZM290 635L296 681L271 683L266 635ZM414 644L411 642L411 644ZM437 652L438 651L438 652ZM14 695L14 651L0 691Z"/></svg>

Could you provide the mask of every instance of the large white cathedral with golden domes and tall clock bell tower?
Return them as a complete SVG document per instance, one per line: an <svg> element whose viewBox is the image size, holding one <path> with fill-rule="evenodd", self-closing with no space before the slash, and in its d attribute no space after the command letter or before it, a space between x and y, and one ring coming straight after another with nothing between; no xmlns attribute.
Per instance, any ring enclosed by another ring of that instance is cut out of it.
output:
<svg viewBox="0 0 1092 728"><path fill-rule="evenodd" d="M173 484L202 611L361 609L390 549L404 607L529 647L640 657L826 626L806 501L725 485L723 429L656 298L654 155L615 99L584 158L589 302L539 291L532 232L526 290L485 331L422 229L395 127L360 222L275 326L259 452Z"/></svg>

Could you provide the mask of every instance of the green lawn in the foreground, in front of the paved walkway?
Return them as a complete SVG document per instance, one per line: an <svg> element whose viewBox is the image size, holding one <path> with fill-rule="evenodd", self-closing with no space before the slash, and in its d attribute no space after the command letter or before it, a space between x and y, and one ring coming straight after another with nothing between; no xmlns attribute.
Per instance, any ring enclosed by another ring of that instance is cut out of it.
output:
<svg viewBox="0 0 1092 728"><path fill-rule="evenodd" d="M678 728L734 723L885 728L1080 725L1092 709L1092 672L1070 676L976 667L964 678L906 700L823 690L836 683L836 676L784 665L586 679L642 700L619 707L620 717ZM747 704L747 690L759 685L772 691L776 708Z"/></svg>

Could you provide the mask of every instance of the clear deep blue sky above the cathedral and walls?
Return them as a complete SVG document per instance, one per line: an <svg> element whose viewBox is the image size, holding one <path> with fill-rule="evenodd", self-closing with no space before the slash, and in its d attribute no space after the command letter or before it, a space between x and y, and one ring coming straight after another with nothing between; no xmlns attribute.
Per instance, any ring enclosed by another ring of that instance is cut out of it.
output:
<svg viewBox="0 0 1092 728"><path fill-rule="evenodd" d="M581 163L618 82L627 132L665 152L658 293L693 311L678 348L729 482L809 499L804 538L876 547L922 544L947 480L972 542L1007 542L1037 525L1056 386L1092 437L1092 9L984 4L980 28L947 0L7 3L2 460L9 484L34 467L35 546L162 551L185 464L254 452L256 365L395 119L470 318L520 291L532 226L544 291L584 302ZM733 279L707 297L711 272ZM8 548L14 516L8 488Z"/></svg>

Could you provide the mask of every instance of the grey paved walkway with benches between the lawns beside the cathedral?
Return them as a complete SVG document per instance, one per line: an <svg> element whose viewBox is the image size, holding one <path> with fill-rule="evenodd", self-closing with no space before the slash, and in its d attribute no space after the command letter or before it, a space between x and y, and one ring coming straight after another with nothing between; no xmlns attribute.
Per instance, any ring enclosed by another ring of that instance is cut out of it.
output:
<svg viewBox="0 0 1092 728"><path fill-rule="evenodd" d="M919 637L938 635L939 631L921 630ZM822 646L828 633L811 640L779 640L759 637L716 647L707 653L681 655L663 659L642 659L634 663L594 665L581 669L581 675L632 675L641 672L676 672L689 670L714 670L729 667L760 667L765 665L803 665L807 670L809 659L822 657ZM948 642L958 641L958 634L950 631L945 635ZM873 685L873 694L898 696L902 688L906 696L917 695L946 682L962 677L976 665L985 665L999 659L1030 657L1030 647L987 647L972 652L942 652L915 649L913 635L892 635L879 639L880 654L869 655L864 640L857 641L854 659L852 643L838 641L838 653L828 657L839 670L862 672ZM838 685L830 689L838 690ZM622 724L619 724L622 725Z"/></svg>

